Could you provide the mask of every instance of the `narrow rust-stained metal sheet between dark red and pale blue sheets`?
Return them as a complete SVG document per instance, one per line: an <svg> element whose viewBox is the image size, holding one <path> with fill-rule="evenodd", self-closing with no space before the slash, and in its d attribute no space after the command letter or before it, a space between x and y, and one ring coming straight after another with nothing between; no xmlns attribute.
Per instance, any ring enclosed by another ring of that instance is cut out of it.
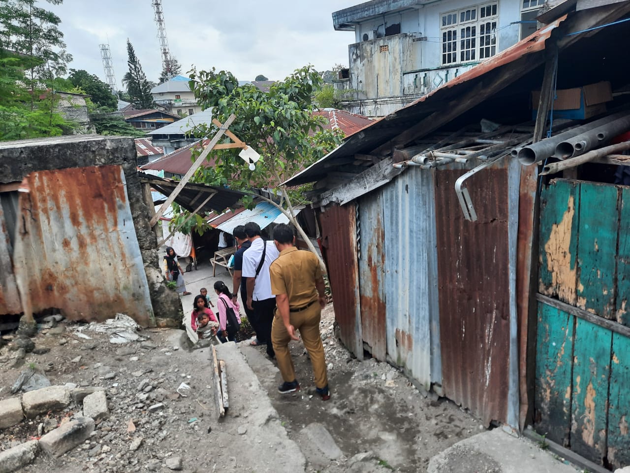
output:
<svg viewBox="0 0 630 473"><path fill-rule="evenodd" d="M358 281L363 341L372 356L386 361L385 231L382 191L358 201ZM390 294L391 297L398 297ZM404 341L406 342L406 340Z"/></svg>

